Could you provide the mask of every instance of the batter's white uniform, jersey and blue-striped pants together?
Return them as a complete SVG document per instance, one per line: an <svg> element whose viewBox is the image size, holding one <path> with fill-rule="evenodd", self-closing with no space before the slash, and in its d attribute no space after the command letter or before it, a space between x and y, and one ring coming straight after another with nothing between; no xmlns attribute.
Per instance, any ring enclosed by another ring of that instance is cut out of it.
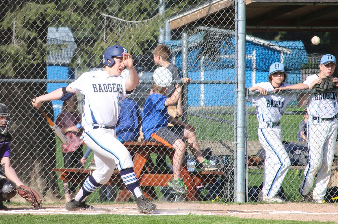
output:
<svg viewBox="0 0 338 224"><path fill-rule="evenodd" d="M83 73L69 84L76 93L84 94L82 126L83 141L94 151L96 182L105 184L116 166L119 170L134 166L126 147L116 138L121 101L132 92L126 93L127 78L109 75L106 71Z"/></svg>

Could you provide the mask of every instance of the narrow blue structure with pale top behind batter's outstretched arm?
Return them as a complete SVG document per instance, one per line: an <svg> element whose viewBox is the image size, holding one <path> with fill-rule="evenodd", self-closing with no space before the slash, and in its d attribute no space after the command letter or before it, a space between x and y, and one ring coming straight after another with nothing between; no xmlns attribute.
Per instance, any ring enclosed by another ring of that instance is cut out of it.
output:
<svg viewBox="0 0 338 224"><path fill-rule="evenodd" d="M72 32L67 27L48 27L47 34L48 57L47 57L47 79L61 80L74 79L74 69L70 69L70 63L76 44ZM47 92L67 86L68 83L47 83ZM54 121L62 111L62 101L53 100Z"/></svg>

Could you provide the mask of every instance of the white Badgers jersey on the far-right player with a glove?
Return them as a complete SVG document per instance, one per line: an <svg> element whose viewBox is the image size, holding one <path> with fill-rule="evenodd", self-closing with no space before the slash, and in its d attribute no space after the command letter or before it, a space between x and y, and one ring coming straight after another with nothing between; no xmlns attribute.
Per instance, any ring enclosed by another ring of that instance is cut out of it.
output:
<svg viewBox="0 0 338 224"><path fill-rule="evenodd" d="M310 75L304 80L304 84L310 84L319 76ZM337 96L332 93L313 93L307 104L308 114L313 117L332 118L338 113Z"/></svg>

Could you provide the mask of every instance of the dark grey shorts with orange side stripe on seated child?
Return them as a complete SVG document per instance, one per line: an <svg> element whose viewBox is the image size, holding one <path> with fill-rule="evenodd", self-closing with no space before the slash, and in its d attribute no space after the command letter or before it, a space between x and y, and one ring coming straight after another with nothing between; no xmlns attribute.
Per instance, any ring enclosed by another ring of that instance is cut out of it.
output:
<svg viewBox="0 0 338 224"><path fill-rule="evenodd" d="M179 125L160 128L151 134L151 139L172 148L177 139L183 140L184 128Z"/></svg>

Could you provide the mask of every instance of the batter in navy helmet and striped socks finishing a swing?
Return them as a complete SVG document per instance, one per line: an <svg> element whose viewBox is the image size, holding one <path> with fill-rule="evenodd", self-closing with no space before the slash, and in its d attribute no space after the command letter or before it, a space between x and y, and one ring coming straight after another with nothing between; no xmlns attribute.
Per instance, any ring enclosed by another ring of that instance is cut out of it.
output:
<svg viewBox="0 0 338 224"><path fill-rule="evenodd" d="M67 100L75 93L84 94L83 141L94 151L96 170L86 179L76 196L66 204L68 210L93 209L93 206L86 203L87 197L99 186L107 183L117 167L123 182L134 195L139 211L148 213L155 209L156 205L142 195L132 168L132 157L117 140L115 130L121 101L134 92L139 84L139 77L131 55L122 46L108 47L103 54L103 64L103 71L83 73L67 88L36 97L35 103L32 104L39 108L43 101ZM129 70L129 78L121 77L125 67Z"/></svg>

